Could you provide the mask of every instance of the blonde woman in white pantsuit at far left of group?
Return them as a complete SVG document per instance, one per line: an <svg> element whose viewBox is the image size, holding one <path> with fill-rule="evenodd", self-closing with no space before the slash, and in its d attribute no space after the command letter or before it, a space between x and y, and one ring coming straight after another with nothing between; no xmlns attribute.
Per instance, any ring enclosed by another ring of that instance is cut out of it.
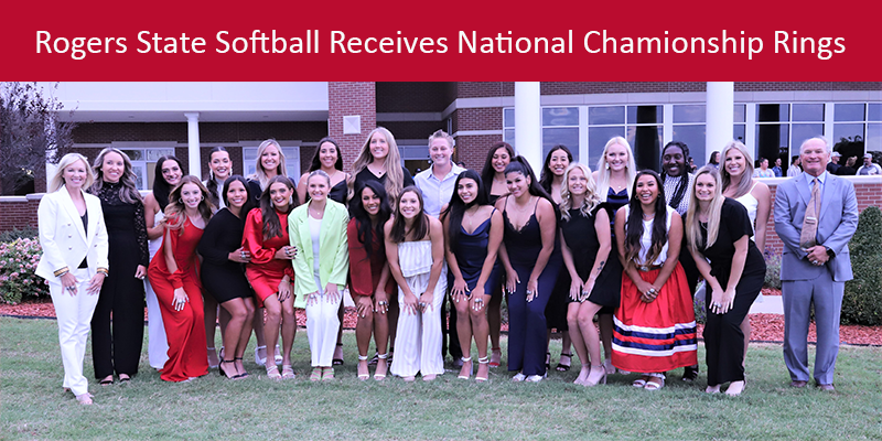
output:
<svg viewBox="0 0 882 441"><path fill-rule="evenodd" d="M107 277L107 228L101 203L87 194L95 180L86 158L65 154L50 191L40 201L37 223L43 256L36 275L49 281L58 322L58 343L64 363L64 388L77 401L92 404L83 376L83 357L92 326L92 314Z"/></svg>

